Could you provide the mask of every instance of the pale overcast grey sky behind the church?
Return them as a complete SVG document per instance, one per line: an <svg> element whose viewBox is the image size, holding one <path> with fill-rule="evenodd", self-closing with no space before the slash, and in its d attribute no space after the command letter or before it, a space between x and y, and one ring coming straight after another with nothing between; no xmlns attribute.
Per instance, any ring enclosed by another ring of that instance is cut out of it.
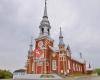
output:
<svg viewBox="0 0 100 80"><path fill-rule="evenodd" d="M72 54L79 57L81 52L93 68L100 67L100 0L48 0L47 8L55 47L62 27ZM44 0L0 0L0 69L24 68L43 12Z"/></svg>

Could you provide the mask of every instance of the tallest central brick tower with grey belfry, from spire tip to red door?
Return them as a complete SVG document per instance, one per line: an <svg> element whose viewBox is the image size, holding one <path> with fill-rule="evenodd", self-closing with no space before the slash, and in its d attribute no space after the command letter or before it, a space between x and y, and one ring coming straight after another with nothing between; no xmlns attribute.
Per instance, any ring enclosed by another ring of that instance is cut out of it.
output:
<svg viewBox="0 0 100 80"><path fill-rule="evenodd" d="M50 37L50 22L47 15L47 1L45 0L44 15L40 22L40 33L35 39L35 73L50 73L50 46L53 47L53 39Z"/></svg>

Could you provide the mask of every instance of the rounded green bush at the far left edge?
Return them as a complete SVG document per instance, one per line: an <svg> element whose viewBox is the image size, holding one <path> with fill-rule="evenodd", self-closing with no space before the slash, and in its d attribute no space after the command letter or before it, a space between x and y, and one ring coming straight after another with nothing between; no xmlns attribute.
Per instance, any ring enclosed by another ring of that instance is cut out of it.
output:
<svg viewBox="0 0 100 80"><path fill-rule="evenodd" d="M8 70L0 70L0 79L12 78L13 74Z"/></svg>

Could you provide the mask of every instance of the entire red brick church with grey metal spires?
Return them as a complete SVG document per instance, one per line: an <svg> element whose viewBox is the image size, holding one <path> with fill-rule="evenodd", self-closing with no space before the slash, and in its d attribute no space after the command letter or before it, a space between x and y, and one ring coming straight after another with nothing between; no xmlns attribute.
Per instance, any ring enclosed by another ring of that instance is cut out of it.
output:
<svg viewBox="0 0 100 80"><path fill-rule="evenodd" d="M44 15L39 26L40 34L35 39L35 48L30 44L26 71L28 74L73 74L85 73L85 61L72 57L70 46L65 47L60 28L58 50L54 48L54 40L50 35L50 22L45 1Z"/></svg>

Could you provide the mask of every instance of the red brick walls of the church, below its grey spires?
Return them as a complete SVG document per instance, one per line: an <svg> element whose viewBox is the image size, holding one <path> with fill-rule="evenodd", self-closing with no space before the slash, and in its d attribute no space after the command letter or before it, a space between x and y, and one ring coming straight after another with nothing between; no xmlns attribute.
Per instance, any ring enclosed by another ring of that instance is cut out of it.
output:
<svg viewBox="0 0 100 80"><path fill-rule="evenodd" d="M38 44L43 42L45 49L41 49ZM60 74L73 74L85 73L86 65L80 61L71 58L71 53L64 47L59 48L56 52L52 51L49 46L53 47L53 41L48 38L36 40L35 50L40 48L40 56L36 57L36 52L28 56L27 73L43 74L43 73L60 73ZM42 55L41 55L42 54Z"/></svg>

